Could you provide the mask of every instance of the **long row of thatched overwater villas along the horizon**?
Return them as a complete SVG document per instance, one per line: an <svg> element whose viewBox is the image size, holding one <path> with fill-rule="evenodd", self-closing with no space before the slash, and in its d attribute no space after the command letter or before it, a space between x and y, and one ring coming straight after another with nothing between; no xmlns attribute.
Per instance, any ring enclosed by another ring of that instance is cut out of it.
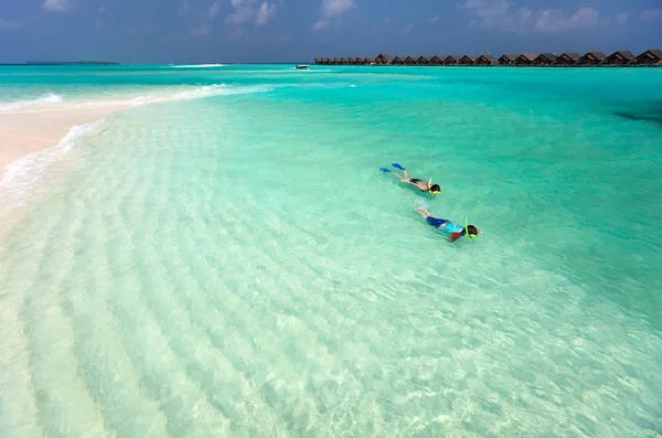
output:
<svg viewBox="0 0 662 438"><path fill-rule="evenodd" d="M484 54L476 55L398 55L380 53L375 57L316 57L320 65L416 65L416 66L537 66L537 67L575 67L575 66L659 66L662 67L662 51L651 49L639 56L629 51L617 51L606 56L602 52L588 52L580 56L575 52L566 52L560 56L555 53L504 54L498 60Z"/></svg>

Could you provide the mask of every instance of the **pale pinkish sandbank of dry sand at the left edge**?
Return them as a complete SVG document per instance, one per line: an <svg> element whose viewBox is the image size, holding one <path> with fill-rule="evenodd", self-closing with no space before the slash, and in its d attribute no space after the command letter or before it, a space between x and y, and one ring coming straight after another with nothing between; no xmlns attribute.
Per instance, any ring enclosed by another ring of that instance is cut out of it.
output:
<svg viewBox="0 0 662 438"><path fill-rule="evenodd" d="M0 111L0 180L7 164L60 142L76 125L100 120L141 103L58 104Z"/></svg>

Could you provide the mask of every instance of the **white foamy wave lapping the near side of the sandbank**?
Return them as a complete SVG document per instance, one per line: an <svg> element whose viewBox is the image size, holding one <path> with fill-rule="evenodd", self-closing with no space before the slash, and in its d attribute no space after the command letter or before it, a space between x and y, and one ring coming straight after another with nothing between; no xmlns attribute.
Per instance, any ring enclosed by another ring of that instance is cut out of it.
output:
<svg viewBox="0 0 662 438"><path fill-rule="evenodd" d="M105 119L86 125L77 125L57 145L20 158L4 168L0 180L0 210L10 210L29 203L35 185L50 174L47 170L62 160L86 133L97 129Z"/></svg>

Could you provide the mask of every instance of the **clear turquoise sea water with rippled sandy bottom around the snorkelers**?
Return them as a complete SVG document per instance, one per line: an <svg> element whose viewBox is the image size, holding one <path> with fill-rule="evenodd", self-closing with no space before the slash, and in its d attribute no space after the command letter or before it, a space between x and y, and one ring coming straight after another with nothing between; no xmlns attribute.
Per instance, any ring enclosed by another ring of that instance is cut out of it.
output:
<svg viewBox="0 0 662 438"><path fill-rule="evenodd" d="M0 185L1 437L662 436L662 70L0 67L122 99Z"/></svg>

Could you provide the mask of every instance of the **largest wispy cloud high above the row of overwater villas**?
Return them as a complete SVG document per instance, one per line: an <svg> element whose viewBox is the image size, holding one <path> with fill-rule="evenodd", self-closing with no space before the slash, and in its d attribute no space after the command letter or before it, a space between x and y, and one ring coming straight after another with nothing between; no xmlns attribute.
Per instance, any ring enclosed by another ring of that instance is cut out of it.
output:
<svg viewBox="0 0 662 438"><path fill-rule="evenodd" d="M467 0L460 8L473 10L476 18L471 25L499 29L511 32L541 31L564 32L573 29L590 28L598 22L599 12L592 8L581 8L566 17L559 9L511 10L508 0Z"/></svg>

